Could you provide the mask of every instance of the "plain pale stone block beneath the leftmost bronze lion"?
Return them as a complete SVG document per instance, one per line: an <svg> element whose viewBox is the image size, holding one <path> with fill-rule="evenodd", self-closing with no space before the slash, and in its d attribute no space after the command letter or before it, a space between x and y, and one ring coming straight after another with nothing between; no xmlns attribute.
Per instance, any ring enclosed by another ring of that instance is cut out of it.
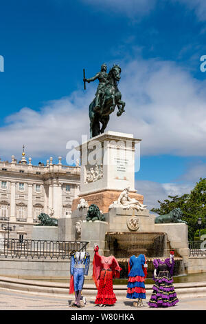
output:
<svg viewBox="0 0 206 324"><path fill-rule="evenodd" d="M58 241L57 226L33 226L32 240Z"/></svg>

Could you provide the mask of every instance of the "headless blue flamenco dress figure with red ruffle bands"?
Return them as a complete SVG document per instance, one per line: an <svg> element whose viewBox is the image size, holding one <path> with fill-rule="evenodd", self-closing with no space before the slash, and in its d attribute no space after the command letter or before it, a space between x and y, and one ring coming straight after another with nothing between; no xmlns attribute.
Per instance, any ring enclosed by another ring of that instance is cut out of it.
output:
<svg viewBox="0 0 206 324"><path fill-rule="evenodd" d="M142 307L142 299L146 298L144 281L147 276L147 267L144 254L139 254L138 257L133 255L128 261L128 290L126 297L130 299L137 298L137 302L134 301L133 303L135 307Z"/></svg>

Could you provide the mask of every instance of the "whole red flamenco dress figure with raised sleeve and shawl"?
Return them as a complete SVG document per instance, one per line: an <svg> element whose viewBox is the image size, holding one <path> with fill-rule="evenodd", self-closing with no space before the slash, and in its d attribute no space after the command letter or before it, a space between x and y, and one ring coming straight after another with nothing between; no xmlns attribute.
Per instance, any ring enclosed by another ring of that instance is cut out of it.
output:
<svg viewBox="0 0 206 324"><path fill-rule="evenodd" d="M113 305L117 298L113 292L113 278L119 278L119 263L114 256L100 256L99 247L95 247L93 258L93 280L98 288L95 304Z"/></svg>

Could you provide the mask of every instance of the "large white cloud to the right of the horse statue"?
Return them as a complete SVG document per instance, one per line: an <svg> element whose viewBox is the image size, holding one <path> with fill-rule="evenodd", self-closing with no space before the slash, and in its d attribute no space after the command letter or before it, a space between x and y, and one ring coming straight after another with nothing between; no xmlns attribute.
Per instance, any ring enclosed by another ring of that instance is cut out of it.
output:
<svg viewBox="0 0 206 324"><path fill-rule="evenodd" d="M141 154L206 154L205 81L170 61L136 60L122 64L119 90L126 114L111 117L109 128L130 130Z"/></svg>

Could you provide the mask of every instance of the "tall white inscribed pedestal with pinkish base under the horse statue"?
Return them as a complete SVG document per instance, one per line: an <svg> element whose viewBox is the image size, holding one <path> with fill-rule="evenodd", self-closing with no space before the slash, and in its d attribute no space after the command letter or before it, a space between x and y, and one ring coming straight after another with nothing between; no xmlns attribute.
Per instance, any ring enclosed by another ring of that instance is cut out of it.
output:
<svg viewBox="0 0 206 324"><path fill-rule="evenodd" d="M80 194L71 210L76 210L80 198L89 205L95 203L103 213L116 201L124 188L130 187L130 196L143 203L144 196L135 190L135 144L133 134L105 132L82 143L80 150Z"/></svg>

